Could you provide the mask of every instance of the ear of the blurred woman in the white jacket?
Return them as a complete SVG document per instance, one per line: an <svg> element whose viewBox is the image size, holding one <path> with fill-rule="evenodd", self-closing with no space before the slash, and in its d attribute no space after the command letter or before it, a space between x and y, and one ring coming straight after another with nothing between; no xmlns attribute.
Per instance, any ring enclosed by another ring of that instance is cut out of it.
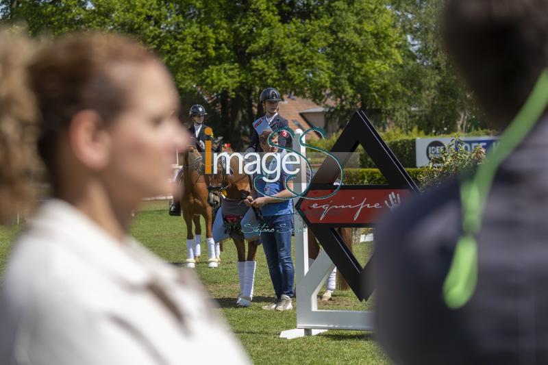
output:
<svg viewBox="0 0 548 365"><path fill-rule="evenodd" d="M69 127L69 141L77 160L91 170L101 170L110 160L111 138L94 110L77 112Z"/></svg>

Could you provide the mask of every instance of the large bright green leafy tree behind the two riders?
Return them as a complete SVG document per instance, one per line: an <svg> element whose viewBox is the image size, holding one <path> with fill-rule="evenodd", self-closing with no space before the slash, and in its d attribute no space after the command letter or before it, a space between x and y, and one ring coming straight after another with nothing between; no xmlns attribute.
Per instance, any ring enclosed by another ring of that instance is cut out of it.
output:
<svg viewBox="0 0 548 365"><path fill-rule="evenodd" d="M388 0L0 0L32 35L133 34L169 66L184 101L206 103L233 147L251 134L260 90L340 109L387 108L403 34ZM235 133L236 132L236 133Z"/></svg>

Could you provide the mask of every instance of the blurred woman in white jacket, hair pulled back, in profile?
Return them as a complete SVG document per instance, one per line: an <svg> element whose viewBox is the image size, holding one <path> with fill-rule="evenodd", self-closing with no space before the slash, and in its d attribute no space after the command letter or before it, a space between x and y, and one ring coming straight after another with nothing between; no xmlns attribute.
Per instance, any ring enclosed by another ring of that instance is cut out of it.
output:
<svg viewBox="0 0 548 365"><path fill-rule="evenodd" d="M127 235L189 142L166 68L127 38L77 34L42 49L29 78L54 199L5 273L0 363L247 363L195 276Z"/></svg>

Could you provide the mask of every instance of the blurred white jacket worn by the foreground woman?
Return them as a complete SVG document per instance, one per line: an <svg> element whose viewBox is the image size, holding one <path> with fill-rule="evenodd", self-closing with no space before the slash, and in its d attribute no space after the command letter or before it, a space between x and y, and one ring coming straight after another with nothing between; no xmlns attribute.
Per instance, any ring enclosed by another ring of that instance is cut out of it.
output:
<svg viewBox="0 0 548 365"><path fill-rule="evenodd" d="M248 364L194 273L114 240L64 201L18 238L0 297L0 364Z"/></svg>

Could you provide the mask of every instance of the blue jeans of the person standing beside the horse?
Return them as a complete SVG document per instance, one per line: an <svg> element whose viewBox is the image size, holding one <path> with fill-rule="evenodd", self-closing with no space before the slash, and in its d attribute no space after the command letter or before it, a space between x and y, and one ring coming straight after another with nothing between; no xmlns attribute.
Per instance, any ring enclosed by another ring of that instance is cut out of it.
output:
<svg viewBox="0 0 548 365"><path fill-rule="evenodd" d="M295 270L291 260L291 232L293 229L293 214L281 216L264 216L264 229L261 232L262 248L269 265L270 278L276 298L282 294L293 297L293 282Z"/></svg>

